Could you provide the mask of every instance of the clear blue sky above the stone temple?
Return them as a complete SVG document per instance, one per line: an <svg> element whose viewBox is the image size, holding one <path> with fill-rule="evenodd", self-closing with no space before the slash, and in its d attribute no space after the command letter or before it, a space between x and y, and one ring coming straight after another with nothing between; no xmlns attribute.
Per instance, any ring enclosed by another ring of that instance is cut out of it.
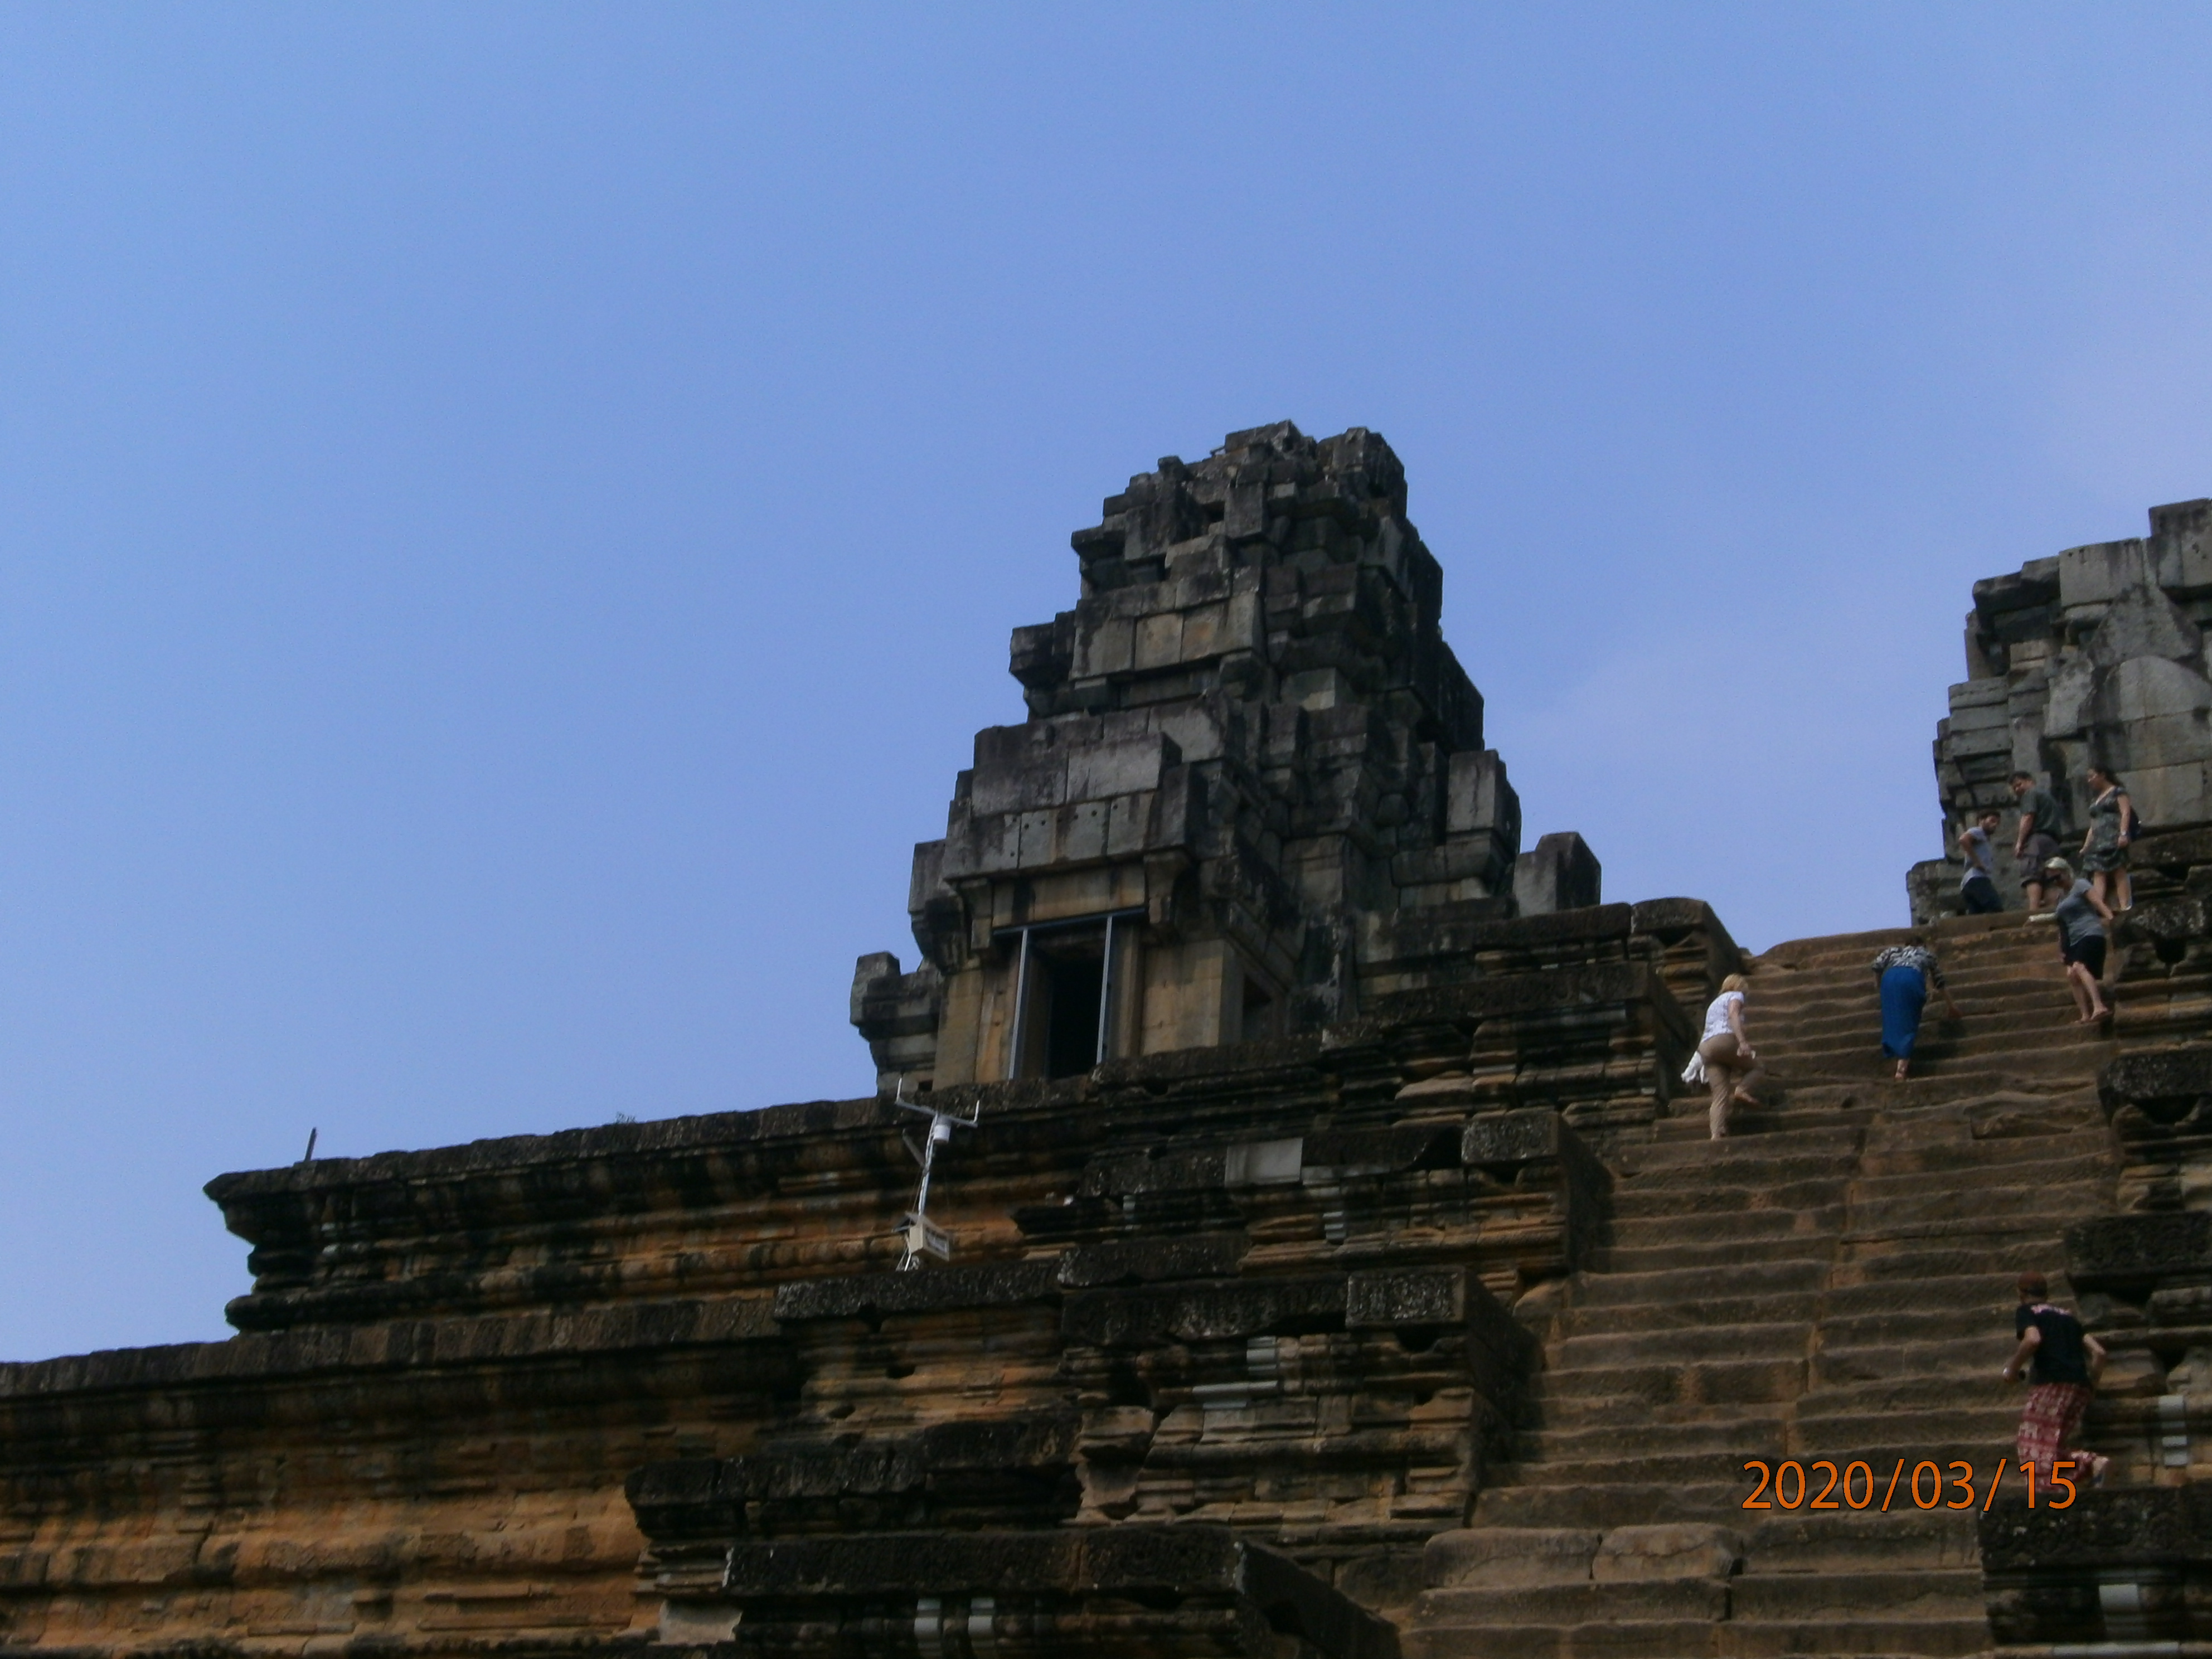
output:
<svg viewBox="0 0 2212 1659"><path fill-rule="evenodd" d="M1528 832L1902 920L1980 575L2212 493L2152 7L0 11L0 1356L199 1183L863 1093L1066 535L1385 434Z"/></svg>

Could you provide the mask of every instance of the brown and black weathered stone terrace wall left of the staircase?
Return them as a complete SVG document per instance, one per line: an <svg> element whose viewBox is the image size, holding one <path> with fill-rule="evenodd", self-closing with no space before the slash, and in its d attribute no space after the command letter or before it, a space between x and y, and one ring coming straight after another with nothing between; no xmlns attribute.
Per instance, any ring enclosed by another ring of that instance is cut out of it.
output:
<svg viewBox="0 0 2212 1659"><path fill-rule="evenodd" d="M916 1272L885 1099L221 1177L241 1336L0 1369L0 1630L1387 1655L1734 964L1690 900L1429 916L1455 982L1325 1031L938 1088Z"/></svg>

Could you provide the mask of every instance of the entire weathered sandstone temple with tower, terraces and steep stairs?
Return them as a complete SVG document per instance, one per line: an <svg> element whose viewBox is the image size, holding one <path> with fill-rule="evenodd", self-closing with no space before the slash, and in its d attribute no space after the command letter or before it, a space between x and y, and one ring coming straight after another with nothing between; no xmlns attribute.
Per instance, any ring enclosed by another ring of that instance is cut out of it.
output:
<svg viewBox="0 0 2212 1659"><path fill-rule="evenodd" d="M1524 845L1378 436L1073 549L858 960L876 1093L217 1177L237 1336L0 1367L0 1644L2212 1655L2212 502L1975 584L1942 845L2093 761L2150 832L2110 1026L1911 872L1964 1018L1907 1084L1907 929L1750 956ZM1991 1480L2031 1265L2112 1354L2066 1506Z"/></svg>

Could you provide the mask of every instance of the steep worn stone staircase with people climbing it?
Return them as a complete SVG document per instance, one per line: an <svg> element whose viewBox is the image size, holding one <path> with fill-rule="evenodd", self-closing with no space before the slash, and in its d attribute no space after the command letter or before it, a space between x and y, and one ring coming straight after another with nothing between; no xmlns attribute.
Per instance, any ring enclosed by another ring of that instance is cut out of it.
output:
<svg viewBox="0 0 2212 1659"><path fill-rule="evenodd" d="M1997 1376L2013 1276L2057 1279L2064 1228L2112 1208L2095 1088L2112 1044L2073 1024L2051 925L1938 925L1964 1020L1931 998L1900 1086L1867 964L1902 938L1759 958L1767 1110L1710 1141L1703 1093L1683 1093L1655 1139L1606 1148L1608 1241L1546 1321L1515 1462L1429 1546L1409 1655L1989 1648L1975 1511L1920 1511L1902 1486L1887 1513L1880 1491L1865 1511L1743 1509L1752 1458L1863 1460L1878 1486L1900 1458L1964 1458L1986 1493L2020 1411Z"/></svg>

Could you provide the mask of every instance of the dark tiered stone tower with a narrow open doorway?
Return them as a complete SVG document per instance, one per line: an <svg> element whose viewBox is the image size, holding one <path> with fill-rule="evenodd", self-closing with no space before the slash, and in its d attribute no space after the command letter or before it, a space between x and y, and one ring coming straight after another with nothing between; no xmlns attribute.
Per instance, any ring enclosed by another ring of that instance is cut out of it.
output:
<svg viewBox="0 0 2212 1659"><path fill-rule="evenodd" d="M854 973L885 1091L1314 1031L1599 900L1582 836L1522 852L1383 438L1230 434L1073 546L1075 608L1013 633L1029 719L914 849L920 964Z"/></svg>

